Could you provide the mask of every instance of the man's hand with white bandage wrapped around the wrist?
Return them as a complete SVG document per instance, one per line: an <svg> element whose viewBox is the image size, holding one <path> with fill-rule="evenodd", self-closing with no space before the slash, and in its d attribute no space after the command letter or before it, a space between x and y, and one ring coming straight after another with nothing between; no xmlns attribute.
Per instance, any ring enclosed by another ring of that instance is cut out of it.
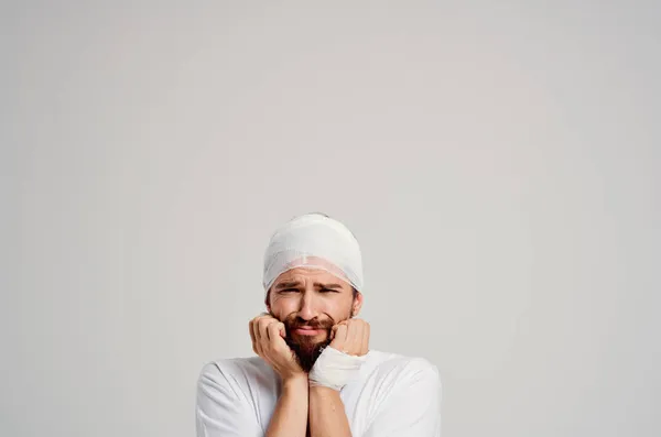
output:
<svg viewBox="0 0 661 437"><path fill-rule="evenodd" d="M333 327L330 345L324 349L308 375L311 387L340 391L356 374L369 351L369 325L345 320Z"/></svg>

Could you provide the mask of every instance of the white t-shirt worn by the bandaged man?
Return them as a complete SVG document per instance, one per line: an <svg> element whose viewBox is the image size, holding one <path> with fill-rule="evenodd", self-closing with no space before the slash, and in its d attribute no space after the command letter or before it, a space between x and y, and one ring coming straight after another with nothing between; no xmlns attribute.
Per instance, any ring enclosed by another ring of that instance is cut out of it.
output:
<svg viewBox="0 0 661 437"><path fill-rule="evenodd" d="M280 391L280 378L259 357L206 364L197 437L263 437ZM354 437L441 436L441 381L425 359L372 350L339 396Z"/></svg>

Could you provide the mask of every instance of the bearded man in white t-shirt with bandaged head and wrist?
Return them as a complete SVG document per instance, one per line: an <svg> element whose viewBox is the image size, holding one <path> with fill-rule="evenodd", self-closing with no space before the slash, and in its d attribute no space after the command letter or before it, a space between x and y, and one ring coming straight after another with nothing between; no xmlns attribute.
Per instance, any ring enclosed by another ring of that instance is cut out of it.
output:
<svg viewBox="0 0 661 437"><path fill-rule="evenodd" d="M285 223L267 249L263 286L268 312L249 323L257 357L201 372L198 437L441 435L436 368L369 349L369 325L356 318L360 248L344 225L321 214Z"/></svg>

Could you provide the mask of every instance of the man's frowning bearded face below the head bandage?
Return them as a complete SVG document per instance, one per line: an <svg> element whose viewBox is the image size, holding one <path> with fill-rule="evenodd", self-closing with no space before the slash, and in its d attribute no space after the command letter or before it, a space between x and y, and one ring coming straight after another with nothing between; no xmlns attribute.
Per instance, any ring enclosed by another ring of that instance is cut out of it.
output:
<svg viewBox="0 0 661 437"><path fill-rule="evenodd" d="M330 343L333 326L357 315L361 304L362 296L354 298L347 282L306 267L282 273L267 297L269 312L284 324L285 340L307 372Z"/></svg>

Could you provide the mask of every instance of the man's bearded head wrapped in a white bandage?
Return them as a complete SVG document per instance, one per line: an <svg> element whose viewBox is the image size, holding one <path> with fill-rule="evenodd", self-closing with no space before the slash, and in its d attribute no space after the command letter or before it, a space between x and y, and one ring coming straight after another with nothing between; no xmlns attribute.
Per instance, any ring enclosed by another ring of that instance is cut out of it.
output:
<svg viewBox="0 0 661 437"><path fill-rule="evenodd" d="M285 340L310 371L334 325L362 306L358 242L327 216L297 217L271 238L264 256L266 305L285 325Z"/></svg>

